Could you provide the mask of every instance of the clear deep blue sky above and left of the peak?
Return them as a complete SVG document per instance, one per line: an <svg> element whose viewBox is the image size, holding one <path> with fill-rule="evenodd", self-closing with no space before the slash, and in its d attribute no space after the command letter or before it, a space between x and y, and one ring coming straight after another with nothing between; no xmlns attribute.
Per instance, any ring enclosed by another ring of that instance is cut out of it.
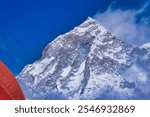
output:
<svg viewBox="0 0 150 117"><path fill-rule="evenodd" d="M112 11L132 11L146 3L149 0L0 0L0 60L17 75L25 65L39 59L55 37L88 16L98 14L99 19L110 6ZM136 17L137 24L141 17L149 16L147 5Z"/></svg>

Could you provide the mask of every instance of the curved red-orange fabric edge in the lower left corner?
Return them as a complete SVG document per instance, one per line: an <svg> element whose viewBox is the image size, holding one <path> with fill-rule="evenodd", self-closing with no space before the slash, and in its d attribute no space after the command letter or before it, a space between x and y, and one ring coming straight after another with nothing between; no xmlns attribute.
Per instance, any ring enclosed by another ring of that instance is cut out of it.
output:
<svg viewBox="0 0 150 117"><path fill-rule="evenodd" d="M24 100L19 83L9 69L0 62L0 100Z"/></svg>

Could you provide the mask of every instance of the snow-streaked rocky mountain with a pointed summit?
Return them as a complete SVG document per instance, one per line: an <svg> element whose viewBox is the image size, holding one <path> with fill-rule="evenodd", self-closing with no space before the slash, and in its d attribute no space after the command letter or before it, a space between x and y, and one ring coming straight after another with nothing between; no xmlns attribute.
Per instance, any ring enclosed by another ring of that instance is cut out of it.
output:
<svg viewBox="0 0 150 117"><path fill-rule="evenodd" d="M150 43L126 44L88 18L17 76L29 99L150 99Z"/></svg>

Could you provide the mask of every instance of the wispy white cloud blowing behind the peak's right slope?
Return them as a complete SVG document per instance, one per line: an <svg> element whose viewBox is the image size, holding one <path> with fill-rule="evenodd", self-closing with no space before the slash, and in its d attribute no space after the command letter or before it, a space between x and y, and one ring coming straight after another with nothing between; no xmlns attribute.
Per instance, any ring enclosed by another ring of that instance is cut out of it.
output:
<svg viewBox="0 0 150 117"><path fill-rule="evenodd" d="M150 17L141 15L147 6L148 3L137 10L113 10L110 5L104 13L97 13L94 18L124 42L142 45L150 42Z"/></svg>

